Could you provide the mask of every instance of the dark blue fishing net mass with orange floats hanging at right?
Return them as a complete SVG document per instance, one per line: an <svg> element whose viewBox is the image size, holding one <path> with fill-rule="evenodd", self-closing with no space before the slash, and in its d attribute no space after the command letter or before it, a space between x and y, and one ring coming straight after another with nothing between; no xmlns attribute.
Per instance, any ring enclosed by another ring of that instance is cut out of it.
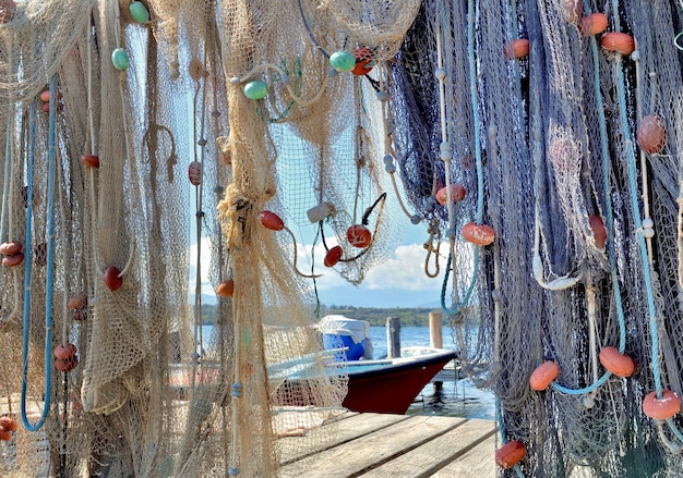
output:
<svg viewBox="0 0 683 478"><path fill-rule="evenodd" d="M424 1L391 65L442 307L526 449L505 476L683 474L681 7Z"/></svg>

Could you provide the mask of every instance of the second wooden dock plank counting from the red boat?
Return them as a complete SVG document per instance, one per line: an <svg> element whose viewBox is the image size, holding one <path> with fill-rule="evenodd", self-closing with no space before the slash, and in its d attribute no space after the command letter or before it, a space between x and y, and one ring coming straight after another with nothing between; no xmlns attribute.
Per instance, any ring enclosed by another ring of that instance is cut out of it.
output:
<svg viewBox="0 0 683 478"><path fill-rule="evenodd" d="M362 414L361 418L369 414ZM347 421L349 419L340 424ZM467 420L464 418L411 416L391 427L285 465L280 468L279 476L283 478L356 477L465 421Z"/></svg>

